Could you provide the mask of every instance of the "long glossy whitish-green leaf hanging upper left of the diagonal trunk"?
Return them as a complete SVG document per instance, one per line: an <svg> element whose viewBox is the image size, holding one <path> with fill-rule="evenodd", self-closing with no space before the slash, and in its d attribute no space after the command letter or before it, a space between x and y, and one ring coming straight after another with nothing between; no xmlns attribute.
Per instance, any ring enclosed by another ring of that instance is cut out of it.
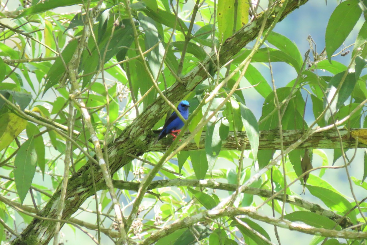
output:
<svg viewBox="0 0 367 245"><path fill-rule="evenodd" d="M141 12L138 14L139 23L145 32L145 50L156 45L162 37L158 32L158 25L160 25L160 29L162 28L161 24L157 24L152 18L149 18L143 15ZM147 61L150 66L150 70L152 71L153 78L156 79L159 76L159 68L161 62L163 60L164 55L164 47L163 43L158 44L152 51L147 54Z"/></svg>

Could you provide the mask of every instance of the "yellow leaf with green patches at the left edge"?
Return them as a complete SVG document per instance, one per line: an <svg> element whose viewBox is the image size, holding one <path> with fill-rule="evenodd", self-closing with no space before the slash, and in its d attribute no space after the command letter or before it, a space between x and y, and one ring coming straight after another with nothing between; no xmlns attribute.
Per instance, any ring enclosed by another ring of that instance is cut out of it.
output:
<svg viewBox="0 0 367 245"><path fill-rule="evenodd" d="M27 126L27 120L14 113L0 115L0 151L7 147Z"/></svg>

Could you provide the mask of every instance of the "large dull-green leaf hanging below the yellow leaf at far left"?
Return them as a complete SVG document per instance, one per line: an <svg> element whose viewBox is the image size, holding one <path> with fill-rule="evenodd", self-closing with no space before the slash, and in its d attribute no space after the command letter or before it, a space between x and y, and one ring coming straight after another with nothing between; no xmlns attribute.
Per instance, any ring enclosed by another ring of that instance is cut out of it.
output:
<svg viewBox="0 0 367 245"><path fill-rule="evenodd" d="M14 160L14 180L21 203L23 203L36 172L37 154L33 136L19 148Z"/></svg>

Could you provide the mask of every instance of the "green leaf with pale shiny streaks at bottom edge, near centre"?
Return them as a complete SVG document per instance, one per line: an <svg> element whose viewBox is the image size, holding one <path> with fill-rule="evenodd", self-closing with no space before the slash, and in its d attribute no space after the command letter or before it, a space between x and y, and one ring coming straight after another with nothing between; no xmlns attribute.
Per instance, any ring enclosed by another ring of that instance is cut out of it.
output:
<svg viewBox="0 0 367 245"><path fill-rule="evenodd" d="M188 245L208 237L212 230L205 226L191 226L175 241L173 245Z"/></svg>

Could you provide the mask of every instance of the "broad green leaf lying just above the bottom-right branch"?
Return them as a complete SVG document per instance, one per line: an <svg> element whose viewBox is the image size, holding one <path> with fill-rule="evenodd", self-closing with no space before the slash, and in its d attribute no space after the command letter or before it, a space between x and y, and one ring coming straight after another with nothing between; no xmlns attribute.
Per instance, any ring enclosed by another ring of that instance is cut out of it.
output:
<svg viewBox="0 0 367 245"><path fill-rule="evenodd" d="M287 215L284 215L284 219L287 219L289 221L301 221L305 224L308 224L309 226L317 227L317 228L325 228L333 230L335 226L335 221L319 215L317 213L309 212L309 211L296 211L293 213L288 213ZM341 230L341 227L338 226L337 230Z"/></svg>

